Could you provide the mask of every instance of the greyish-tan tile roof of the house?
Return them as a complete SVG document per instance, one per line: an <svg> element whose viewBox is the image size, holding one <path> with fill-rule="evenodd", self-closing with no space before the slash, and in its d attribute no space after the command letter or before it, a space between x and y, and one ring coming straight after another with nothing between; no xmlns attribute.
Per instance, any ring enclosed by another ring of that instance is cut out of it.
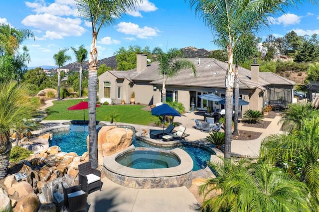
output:
<svg viewBox="0 0 319 212"><path fill-rule="evenodd" d="M184 69L175 77L168 78L166 85L205 87L205 88L225 88L225 76L227 63L214 58L187 58L196 67L196 76L191 69ZM148 81L154 85L163 83L163 76L158 69L158 62L149 64L141 72L136 69L130 71L109 71L118 78L127 78L130 81ZM265 89L264 86L275 85L295 85L295 82L271 72L259 72L259 83L251 80L251 71L239 68L239 88L240 89Z"/></svg>

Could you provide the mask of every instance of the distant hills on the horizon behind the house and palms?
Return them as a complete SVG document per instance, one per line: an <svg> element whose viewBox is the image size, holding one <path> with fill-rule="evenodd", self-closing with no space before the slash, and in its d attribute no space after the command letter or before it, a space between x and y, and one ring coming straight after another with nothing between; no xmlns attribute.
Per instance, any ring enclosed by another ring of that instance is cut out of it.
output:
<svg viewBox="0 0 319 212"><path fill-rule="evenodd" d="M199 58L199 57L206 58L212 53L212 51L208 51L206 49L197 49L195 47L185 47L185 48L182 48L181 51L185 58ZM101 64L105 64L106 66L111 67L112 70L116 70L118 66L118 63L116 62L116 56L107 57L107 58L99 60L98 66L100 66ZM78 62L69 63L61 68L69 69L70 71L79 71L80 64ZM83 70L89 69L88 61L84 61L82 63L82 69Z"/></svg>

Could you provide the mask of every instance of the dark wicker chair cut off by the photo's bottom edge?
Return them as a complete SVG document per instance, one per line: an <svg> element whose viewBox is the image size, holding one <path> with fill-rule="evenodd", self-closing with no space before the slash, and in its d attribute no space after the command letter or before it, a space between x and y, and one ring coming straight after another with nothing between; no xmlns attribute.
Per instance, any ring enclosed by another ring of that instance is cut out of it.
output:
<svg viewBox="0 0 319 212"><path fill-rule="evenodd" d="M71 186L63 188L63 205L67 208L68 212L86 211L86 197L87 194L82 190L82 186Z"/></svg>

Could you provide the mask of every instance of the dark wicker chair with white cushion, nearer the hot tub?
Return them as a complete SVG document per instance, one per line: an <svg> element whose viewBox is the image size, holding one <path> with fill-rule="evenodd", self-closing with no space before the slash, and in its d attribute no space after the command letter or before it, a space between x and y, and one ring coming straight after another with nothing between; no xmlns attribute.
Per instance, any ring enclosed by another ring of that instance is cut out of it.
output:
<svg viewBox="0 0 319 212"><path fill-rule="evenodd" d="M92 169L91 162L79 164L79 184L87 194L98 189L101 191L101 172Z"/></svg>

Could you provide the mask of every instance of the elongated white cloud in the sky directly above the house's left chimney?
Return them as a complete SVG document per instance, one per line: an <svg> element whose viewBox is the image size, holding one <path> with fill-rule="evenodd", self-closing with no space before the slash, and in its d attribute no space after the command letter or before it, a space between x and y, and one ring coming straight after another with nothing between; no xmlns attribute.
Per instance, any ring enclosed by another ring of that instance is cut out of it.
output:
<svg viewBox="0 0 319 212"><path fill-rule="evenodd" d="M131 22L120 22L116 27L116 30L129 35L136 35L141 39L148 39L150 37L158 36L160 30L157 28L151 28L148 26L144 26L140 28L138 24Z"/></svg>

